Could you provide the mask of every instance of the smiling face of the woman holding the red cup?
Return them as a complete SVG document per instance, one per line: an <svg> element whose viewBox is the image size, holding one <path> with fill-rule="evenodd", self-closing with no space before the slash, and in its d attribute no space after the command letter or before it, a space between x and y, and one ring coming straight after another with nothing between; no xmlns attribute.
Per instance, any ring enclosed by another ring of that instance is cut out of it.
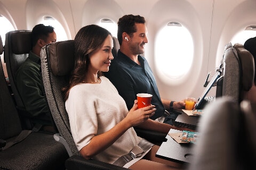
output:
<svg viewBox="0 0 256 170"><path fill-rule="evenodd" d="M111 49L113 48L113 39L110 35L105 39L102 46L95 50L93 53L89 54L90 66L89 69L92 69L93 72L107 72L111 60L113 60L113 55Z"/></svg>

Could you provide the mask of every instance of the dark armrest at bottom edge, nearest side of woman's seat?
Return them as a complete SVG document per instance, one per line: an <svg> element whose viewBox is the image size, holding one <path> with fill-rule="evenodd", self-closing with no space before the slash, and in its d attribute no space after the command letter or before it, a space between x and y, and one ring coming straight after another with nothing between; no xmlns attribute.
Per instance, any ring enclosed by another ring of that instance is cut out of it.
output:
<svg viewBox="0 0 256 170"><path fill-rule="evenodd" d="M127 168L112 165L104 162L100 162L98 160L90 159L86 160L82 156L71 156L65 162L66 170L104 170L104 169L113 169L113 170L127 170Z"/></svg>

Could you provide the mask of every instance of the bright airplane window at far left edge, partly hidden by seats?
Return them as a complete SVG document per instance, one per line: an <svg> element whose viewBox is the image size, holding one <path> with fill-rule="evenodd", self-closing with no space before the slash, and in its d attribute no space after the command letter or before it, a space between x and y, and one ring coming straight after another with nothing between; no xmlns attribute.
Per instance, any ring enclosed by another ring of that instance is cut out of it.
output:
<svg viewBox="0 0 256 170"><path fill-rule="evenodd" d="M15 29L14 29L13 25L11 24L11 22L9 20L7 20L5 18L5 16L3 16L1 14L0 14L0 25L4 25L4 27L0 27L0 35L1 35L1 38L2 38L2 41L3 41L3 45L4 45L5 34L9 31L14 31ZM7 75L6 66L5 66L5 63L4 63L4 54L1 55L1 62L2 62L2 65L3 65L4 75L7 78L8 75Z"/></svg>

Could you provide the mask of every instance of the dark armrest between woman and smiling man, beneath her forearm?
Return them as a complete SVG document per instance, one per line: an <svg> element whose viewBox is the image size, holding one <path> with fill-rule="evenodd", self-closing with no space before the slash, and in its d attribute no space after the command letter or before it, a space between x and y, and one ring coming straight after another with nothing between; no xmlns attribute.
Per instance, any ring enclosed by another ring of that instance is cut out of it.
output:
<svg viewBox="0 0 256 170"><path fill-rule="evenodd" d="M144 138L152 143L157 143L158 142L166 142L167 139L166 137L166 133L161 133L161 132L156 132L156 131L149 131L149 130L145 130L145 129L141 129L141 128L137 128L137 127L133 127L135 132L137 133L137 135L141 138ZM161 144L159 143L159 144Z"/></svg>

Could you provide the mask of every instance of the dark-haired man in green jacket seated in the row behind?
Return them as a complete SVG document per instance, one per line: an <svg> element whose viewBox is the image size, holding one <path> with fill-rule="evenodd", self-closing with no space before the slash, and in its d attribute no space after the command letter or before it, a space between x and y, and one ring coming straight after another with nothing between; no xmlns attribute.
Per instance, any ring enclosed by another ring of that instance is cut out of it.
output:
<svg viewBox="0 0 256 170"><path fill-rule="evenodd" d="M32 49L27 60L19 67L15 75L17 89L25 105L28 117L35 123L51 124L51 113L43 94L41 82L40 51L43 46L57 40L54 28L43 24L36 25L31 32Z"/></svg>

